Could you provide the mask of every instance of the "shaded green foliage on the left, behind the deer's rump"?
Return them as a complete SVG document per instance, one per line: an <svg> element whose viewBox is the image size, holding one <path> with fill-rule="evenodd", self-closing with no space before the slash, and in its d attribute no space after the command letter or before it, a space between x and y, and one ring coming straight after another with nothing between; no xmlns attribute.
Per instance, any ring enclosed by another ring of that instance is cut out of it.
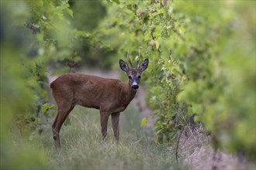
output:
<svg viewBox="0 0 256 170"><path fill-rule="evenodd" d="M71 21L66 0L1 1L1 168L46 168L43 151L29 148L55 115L48 76L78 67L85 46L109 49Z"/></svg>

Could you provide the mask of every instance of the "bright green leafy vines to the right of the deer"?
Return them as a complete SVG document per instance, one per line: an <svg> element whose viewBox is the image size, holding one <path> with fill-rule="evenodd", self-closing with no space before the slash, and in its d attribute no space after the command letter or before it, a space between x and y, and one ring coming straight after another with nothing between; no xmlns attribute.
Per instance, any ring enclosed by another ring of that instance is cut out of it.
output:
<svg viewBox="0 0 256 170"><path fill-rule="evenodd" d="M112 45L120 55L140 49L150 59L147 89L158 140L176 141L196 115L215 148L254 158L255 2L117 4L102 24L104 35L119 35L122 44Z"/></svg>

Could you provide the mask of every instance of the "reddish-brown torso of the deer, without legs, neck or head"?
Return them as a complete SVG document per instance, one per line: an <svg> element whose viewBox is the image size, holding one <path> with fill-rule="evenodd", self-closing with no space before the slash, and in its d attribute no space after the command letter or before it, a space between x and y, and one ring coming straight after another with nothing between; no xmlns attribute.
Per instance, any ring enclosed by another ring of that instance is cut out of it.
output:
<svg viewBox="0 0 256 170"><path fill-rule="evenodd" d="M116 100L123 86L120 80L79 73L64 74L50 84L56 101L68 98L74 104L98 109L102 102Z"/></svg>

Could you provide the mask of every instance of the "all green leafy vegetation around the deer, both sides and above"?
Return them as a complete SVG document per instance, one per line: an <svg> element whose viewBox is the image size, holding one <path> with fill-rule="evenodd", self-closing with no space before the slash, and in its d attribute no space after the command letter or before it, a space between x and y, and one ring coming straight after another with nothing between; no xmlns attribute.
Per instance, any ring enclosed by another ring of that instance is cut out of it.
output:
<svg viewBox="0 0 256 170"><path fill-rule="evenodd" d="M0 3L1 168L47 168L48 76L119 69L128 49L150 59L143 83L159 142L174 144L196 114L214 148L255 159L254 1Z"/></svg>

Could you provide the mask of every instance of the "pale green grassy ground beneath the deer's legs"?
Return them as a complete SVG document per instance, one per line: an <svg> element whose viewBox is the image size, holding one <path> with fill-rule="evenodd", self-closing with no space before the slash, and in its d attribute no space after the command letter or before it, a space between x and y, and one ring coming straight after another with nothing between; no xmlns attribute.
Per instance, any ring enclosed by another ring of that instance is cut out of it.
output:
<svg viewBox="0 0 256 170"><path fill-rule="evenodd" d="M133 106L120 120L119 145L113 141L111 119L108 137L102 142L99 110L76 107L69 116L70 125L61 129L62 150L55 151L50 126L40 135L49 158L49 169L179 169L174 151L152 141L152 133L140 128L140 118Z"/></svg>

